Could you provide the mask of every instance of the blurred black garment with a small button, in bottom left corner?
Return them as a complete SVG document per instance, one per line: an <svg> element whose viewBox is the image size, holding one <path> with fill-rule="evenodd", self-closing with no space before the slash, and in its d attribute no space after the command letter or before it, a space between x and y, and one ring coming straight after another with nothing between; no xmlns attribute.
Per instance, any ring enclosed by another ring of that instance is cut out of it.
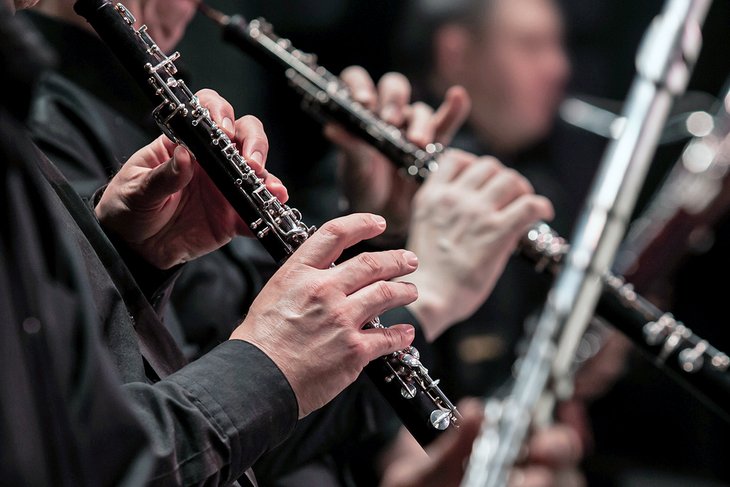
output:
<svg viewBox="0 0 730 487"><path fill-rule="evenodd" d="M101 346L83 260L39 187L33 150L0 110L0 476L140 485L153 467L147 436Z"/></svg>

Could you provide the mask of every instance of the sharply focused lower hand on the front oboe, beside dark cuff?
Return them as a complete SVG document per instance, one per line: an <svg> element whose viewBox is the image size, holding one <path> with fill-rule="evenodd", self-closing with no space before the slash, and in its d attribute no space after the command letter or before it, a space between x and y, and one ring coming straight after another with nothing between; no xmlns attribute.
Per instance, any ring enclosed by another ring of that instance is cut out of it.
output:
<svg viewBox="0 0 730 487"><path fill-rule="evenodd" d="M284 372L303 417L352 383L373 359L408 346L409 325L363 330L367 321L416 299L405 250L361 254L336 267L342 251L383 232L385 220L353 214L325 223L274 274L231 338L261 348Z"/></svg>

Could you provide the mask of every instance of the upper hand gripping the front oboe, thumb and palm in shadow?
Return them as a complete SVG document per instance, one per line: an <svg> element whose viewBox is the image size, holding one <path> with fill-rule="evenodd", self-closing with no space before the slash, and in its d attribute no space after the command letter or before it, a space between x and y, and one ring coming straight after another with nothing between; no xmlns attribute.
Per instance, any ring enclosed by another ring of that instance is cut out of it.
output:
<svg viewBox="0 0 730 487"><path fill-rule="evenodd" d="M264 169L269 146L261 122L252 116L233 122L233 108L217 93L203 90L199 96L269 191L285 201L281 181ZM129 158L109 182L95 211L102 225L161 269L248 233L190 153L164 136Z"/></svg>

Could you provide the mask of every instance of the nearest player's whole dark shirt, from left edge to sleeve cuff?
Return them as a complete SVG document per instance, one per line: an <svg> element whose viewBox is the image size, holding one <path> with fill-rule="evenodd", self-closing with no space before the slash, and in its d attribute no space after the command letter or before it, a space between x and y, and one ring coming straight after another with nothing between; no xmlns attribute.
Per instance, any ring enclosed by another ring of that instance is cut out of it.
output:
<svg viewBox="0 0 730 487"><path fill-rule="evenodd" d="M294 428L286 378L242 341L186 365L157 312L175 273L118 251L4 111L2 125L3 479L234 482Z"/></svg>

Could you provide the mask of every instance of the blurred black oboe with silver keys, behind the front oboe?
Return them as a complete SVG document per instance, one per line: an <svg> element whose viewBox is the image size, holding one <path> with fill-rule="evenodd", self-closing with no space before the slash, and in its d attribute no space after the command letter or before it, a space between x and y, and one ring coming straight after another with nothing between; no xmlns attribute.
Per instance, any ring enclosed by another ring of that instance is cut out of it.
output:
<svg viewBox="0 0 730 487"><path fill-rule="evenodd" d="M240 15L229 16L203 3L198 7L222 28L226 42L266 66L283 68L290 85L302 96L306 112L341 123L419 182L438 170L437 157L444 150L440 144L422 149L409 142L400 129L352 100L347 86L317 64L314 54L296 49L290 40L278 37L264 19L247 22ZM522 237L517 253L534 264L539 273L554 277L568 249L565 239L547 223L540 222ZM730 378L725 374L728 356L698 338L671 314L659 311L634 292L631 284L607 274L597 314L633 340L655 363L664 364L668 372L674 369L673 375L681 383L702 391L715 409L730 411ZM687 362L695 355L697 359ZM708 377L700 377L705 374Z"/></svg>

